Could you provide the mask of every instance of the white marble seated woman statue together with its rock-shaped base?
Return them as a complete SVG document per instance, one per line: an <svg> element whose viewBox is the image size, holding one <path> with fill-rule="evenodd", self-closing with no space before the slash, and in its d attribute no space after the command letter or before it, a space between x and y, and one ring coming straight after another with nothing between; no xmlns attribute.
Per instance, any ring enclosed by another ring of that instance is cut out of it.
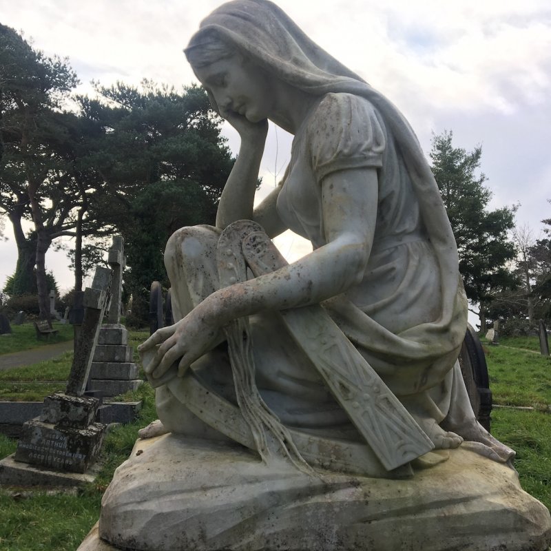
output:
<svg viewBox="0 0 551 551"><path fill-rule="evenodd" d="M176 323L140 346L159 420L79 550L546 550L468 400L457 247L402 114L267 0L185 54L240 151L216 227L167 243ZM268 120L291 160L253 209ZM291 264L288 228L313 246Z"/></svg>

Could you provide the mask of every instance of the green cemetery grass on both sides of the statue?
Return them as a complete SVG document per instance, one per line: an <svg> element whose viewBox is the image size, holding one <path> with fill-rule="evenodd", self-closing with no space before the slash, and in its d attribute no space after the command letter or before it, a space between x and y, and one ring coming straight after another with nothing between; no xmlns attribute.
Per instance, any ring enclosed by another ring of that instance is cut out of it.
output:
<svg viewBox="0 0 551 551"><path fill-rule="evenodd" d="M147 335L145 331L131 331L129 344L136 349ZM27 344L34 346L36 342L28 338ZM537 337L501 338L499 346L483 340L483 345L494 404L508 406L492 411L492 434L516 450L514 466L523 488L551 508L551 359L539 355ZM62 390L71 362L72 353L65 353L54 360L0 373L0 398L43 399L52 391ZM132 450L138 429L156 418L154 392L149 385L126 397L143 399L143 408L135 422L116 426L108 433L101 472L93 484L72 491L0 488L2 550L69 551L79 546L97 521L103 492L115 468ZM14 439L0 435L0 458L15 448Z"/></svg>

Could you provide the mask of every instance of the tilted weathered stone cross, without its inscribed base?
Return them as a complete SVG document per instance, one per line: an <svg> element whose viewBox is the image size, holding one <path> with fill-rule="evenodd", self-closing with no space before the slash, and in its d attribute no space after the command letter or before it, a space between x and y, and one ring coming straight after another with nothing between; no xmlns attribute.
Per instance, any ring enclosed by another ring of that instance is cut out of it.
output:
<svg viewBox="0 0 551 551"><path fill-rule="evenodd" d="M92 287L84 291L84 319L74 346L74 357L67 383L67 395L82 396L86 388L99 330L110 299L112 271L97 267Z"/></svg>

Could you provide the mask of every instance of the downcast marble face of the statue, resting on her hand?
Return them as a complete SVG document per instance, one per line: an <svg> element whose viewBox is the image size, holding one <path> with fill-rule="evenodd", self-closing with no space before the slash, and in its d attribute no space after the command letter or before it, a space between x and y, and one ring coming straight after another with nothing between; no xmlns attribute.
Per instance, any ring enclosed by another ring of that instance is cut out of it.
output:
<svg viewBox="0 0 551 551"><path fill-rule="evenodd" d="M236 54L194 71L214 96L222 116L237 113L251 123L269 118L273 90L267 74L254 63Z"/></svg>

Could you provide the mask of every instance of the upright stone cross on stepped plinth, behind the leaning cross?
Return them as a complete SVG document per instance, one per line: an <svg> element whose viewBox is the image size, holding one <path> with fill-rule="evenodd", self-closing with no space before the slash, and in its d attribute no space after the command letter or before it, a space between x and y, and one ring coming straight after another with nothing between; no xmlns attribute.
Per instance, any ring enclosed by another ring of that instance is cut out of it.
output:
<svg viewBox="0 0 551 551"><path fill-rule="evenodd" d="M107 324L99 333L98 346L90 371L88 388L103 396L116 396L135 391L143 384L138 379L138 365L134 363L134 349L128 346L128 332L121 321L121 296L125 256L123 238L114 236L109 250L109 264L113 271L112 300Z"/></svg>

